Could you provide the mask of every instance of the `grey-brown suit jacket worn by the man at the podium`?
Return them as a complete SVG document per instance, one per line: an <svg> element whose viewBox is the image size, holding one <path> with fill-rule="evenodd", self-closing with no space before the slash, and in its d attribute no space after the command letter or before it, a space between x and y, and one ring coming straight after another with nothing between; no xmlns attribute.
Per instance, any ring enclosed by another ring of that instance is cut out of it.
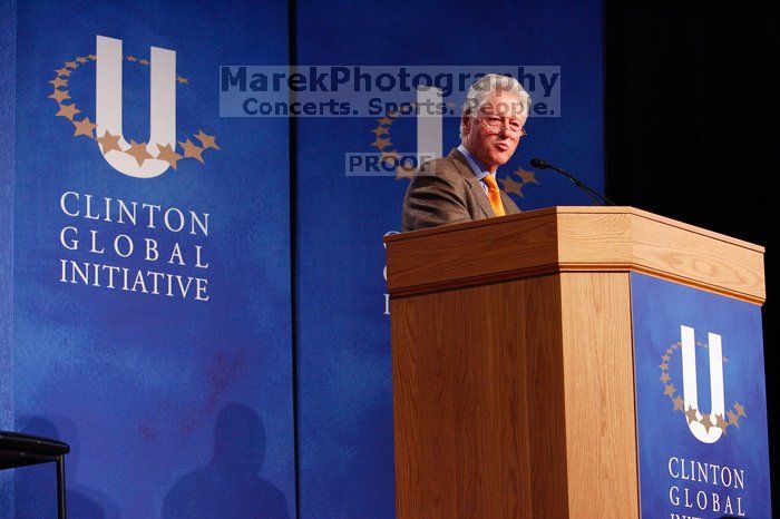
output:
<svg viewBox="0 0 780 519"><path fill-rule="evenodd" d="M520 209L501 192L504 212ZM403 231L496 216L466 157L452 148L443 158L420 166L403 197Z"/></svg>

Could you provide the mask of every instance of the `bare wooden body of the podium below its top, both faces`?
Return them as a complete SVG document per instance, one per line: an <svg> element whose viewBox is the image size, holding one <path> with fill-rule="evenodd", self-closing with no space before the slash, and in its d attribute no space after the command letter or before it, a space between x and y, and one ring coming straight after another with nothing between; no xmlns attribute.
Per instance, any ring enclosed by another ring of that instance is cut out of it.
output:
<svg viewBox="0 0 780 519"><path fill-rule="evenodd" d="M398 517L637 517L628 294L567 273L394 300Z"/></svg>

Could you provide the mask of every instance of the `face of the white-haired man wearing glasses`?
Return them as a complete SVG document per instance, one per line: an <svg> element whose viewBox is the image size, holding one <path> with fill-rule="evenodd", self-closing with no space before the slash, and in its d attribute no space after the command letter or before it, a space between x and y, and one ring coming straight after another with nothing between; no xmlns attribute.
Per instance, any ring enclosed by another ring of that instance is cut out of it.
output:
<svg viewBox="0 0 780 519"><path fill-rule="evenodd" d="M477 118L465 116L464 144L495 173L498 166L509 161L520 141L520 134L513 133L510 128L523 128L527 118L528 112L517 95L499 90L488 97Z"/></svg>

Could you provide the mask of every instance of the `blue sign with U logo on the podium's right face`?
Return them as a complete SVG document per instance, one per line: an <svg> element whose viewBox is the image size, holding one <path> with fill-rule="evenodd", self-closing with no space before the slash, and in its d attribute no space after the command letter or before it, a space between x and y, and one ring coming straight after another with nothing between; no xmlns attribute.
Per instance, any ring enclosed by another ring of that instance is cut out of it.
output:
<svg viewBox="0 0 780 519"><path fill-rule="evenodd" d="M632 274L642 517L770 518L761 309Z"/></svg>

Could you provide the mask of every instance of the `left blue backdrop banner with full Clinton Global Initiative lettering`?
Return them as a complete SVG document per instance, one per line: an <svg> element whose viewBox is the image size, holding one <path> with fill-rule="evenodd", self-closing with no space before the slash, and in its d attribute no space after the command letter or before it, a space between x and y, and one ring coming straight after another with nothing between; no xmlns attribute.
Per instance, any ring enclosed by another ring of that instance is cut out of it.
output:
<svg viewBox="0 0 780 519"><path fill-rule="evenodd" d="M16 428L71 444L72 517L294 515L289 126L216 94L289 61L259 8L18 4ZM16 517L51 477L17 471Z"/></svg>

